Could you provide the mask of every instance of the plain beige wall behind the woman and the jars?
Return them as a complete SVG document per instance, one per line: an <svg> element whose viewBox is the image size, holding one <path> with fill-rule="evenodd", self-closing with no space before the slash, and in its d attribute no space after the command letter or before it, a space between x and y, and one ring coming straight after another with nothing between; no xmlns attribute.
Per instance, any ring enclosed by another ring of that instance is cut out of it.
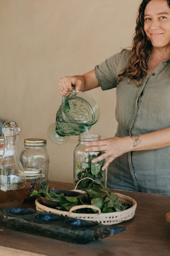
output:
<svg viewBox="0 0 170 256"><path fill-rule="evenodd" d="M140 0L0 0L0 119L15 121L24 138L47 139L50 180L73 182L78 137L48 138L64 76L82 75L131 46ZM101 115L91 133L114 137L116 89L89 91Z"/></svg>

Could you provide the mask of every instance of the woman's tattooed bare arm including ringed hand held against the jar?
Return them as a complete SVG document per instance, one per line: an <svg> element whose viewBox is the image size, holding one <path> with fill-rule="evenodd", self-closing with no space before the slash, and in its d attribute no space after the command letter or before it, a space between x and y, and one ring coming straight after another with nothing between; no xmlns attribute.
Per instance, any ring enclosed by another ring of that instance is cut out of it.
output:
<svg viewBox="0 0 170 256"><path fill-rule="evenodd" d="M93 141L86 144L85 151L104 151L101 156L92 160L99 162L108 157L102 170L106 169L116 157L130 151L158 149L170 146L170 127L142 135L113 137L102 141Z"/></svg>

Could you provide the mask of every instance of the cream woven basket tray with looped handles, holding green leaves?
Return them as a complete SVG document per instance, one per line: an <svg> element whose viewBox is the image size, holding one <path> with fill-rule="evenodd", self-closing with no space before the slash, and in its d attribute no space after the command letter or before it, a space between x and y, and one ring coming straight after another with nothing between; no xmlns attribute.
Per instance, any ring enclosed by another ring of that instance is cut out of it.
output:
<svg viewBox="0 0 170 256"><path fill-rule="evenodd" d="M36 209L38 211L50 212L50 213L54 213L57 215L68 216L71 218L94 221L94 222L102 223L103 225L113 225L113 224L120 223L122 221L127 221L127 220L132 219L135 214L135 209L137 206L136 201L134 199L124 196L122 194L119 194L119 193L115 193L115 194L117 195L120 203L131 202L132 207L127 210L120 211L120 212L101 213L101 210L98 207L95 207L93 205L77 205L77 206L72 207L69 212L66 212L66 211L60 211L57 209L53 209L53 208L44 206L38 202L38 199L36 199ZM85 213L74 213L73 212L73 211L75 211L77 209L81 209L81 208L92 208L92 209L98 210L99 212L93 213L93 214L91 214L91 213L86 213L86 214Z"/></svg>

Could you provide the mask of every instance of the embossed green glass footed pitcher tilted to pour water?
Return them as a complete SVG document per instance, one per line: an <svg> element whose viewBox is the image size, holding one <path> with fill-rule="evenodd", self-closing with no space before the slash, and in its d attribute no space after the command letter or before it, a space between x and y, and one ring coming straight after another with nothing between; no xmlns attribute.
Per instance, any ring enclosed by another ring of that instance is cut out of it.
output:
<svg viewBox="0 0 170 256"><path fill-rule="evenodd" d="M85 131L99 120L100 110L97 102L87 93L73 92L63 96L62 104L56 113L56 122L48 127L48 136L56 144L63 145L70 136Z"/></svg>

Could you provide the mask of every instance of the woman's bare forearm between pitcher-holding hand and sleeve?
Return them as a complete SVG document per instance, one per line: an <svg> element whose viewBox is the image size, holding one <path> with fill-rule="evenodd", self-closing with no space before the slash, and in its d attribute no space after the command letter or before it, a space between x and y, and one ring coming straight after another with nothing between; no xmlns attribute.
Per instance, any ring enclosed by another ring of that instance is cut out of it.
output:
<svg viewBox="0 0 170 256"><path fill-rule="evenodd" d="M83 74L82 76L74 76L74 77L81 80L80 91L82 92L100 87L100 84L95 76L94 69L86 74Z"/></svg>

